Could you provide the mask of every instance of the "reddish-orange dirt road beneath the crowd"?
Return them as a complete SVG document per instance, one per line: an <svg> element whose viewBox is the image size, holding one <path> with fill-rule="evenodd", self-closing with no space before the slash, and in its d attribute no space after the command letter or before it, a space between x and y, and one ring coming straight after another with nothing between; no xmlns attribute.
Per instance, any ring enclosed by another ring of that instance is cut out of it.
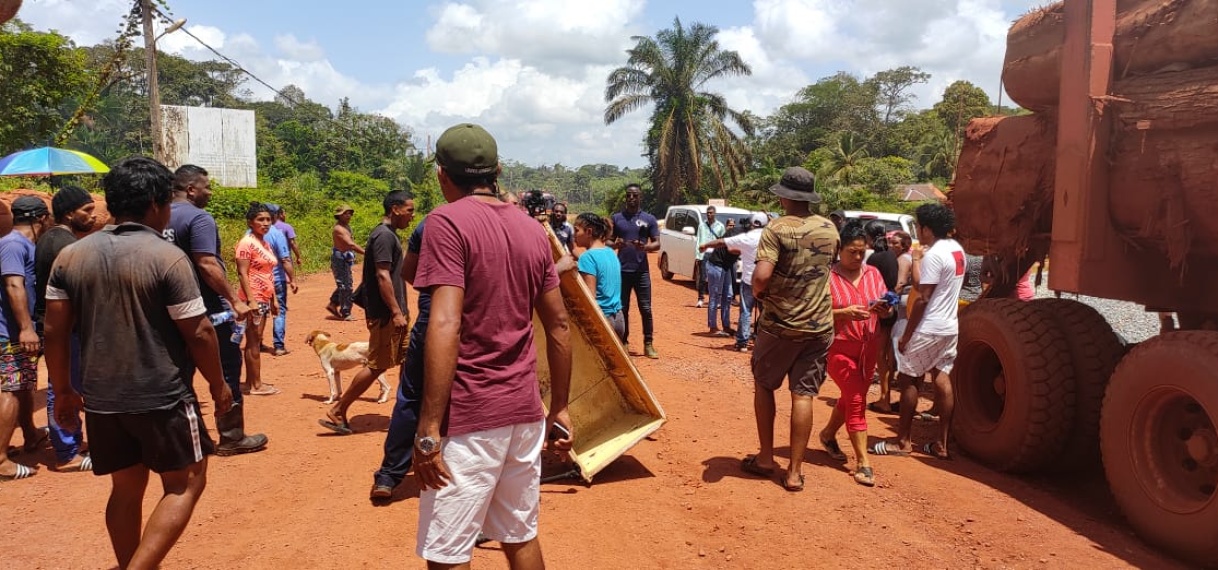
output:
<svg viewBox="0 0 1218 570"><path fill-rule="evenodd" d="M635 362L669 421L593 485L543 485L541 541L551 568L1183 568L1132 533L1102 476L1017 479L956 453L949 462L873 458L878 486L865 488L815 448L806 454L803 493L742 474L739 458L756 449L749 357L732 351L731 340L705 335L705 309L693 307L688 279L667 283L652 274L661 358L639 356L635 313ZM392 402L376 404L370 390L351 409L353 436L317 424L326 385L304 336L314 328L340 341L365 335L362 323L324 318L331 284L329 275L303 279L290 300L291 354L263 356L264 379L283 393L246 396L247 427L270 437L268 449L212 458L207 491L167 568L423 566L414 554L413 480L389 505L368 501ZM201 380L197 387L207 393ZM786 393L776 434L781 465L789 457L782 445ZM816 430L836 396L827 384ZM203 409L209 417L209 404ZM45 408L37 419L45 423ZM871 415L872 440L892 436L895 420ZM921 424L915 441L928 441L933 429ZM844 434L839 441L849 449ZM108 481L46 469L54 462L49 448L17 459L43 470L0 484L10 521L0 536L6 566L113 568L104 522ZM557 462L547 463L547 475L560 471ZM153 484L145 516L158 497ZM504 561L491 543L476 551L474 565Z"/></svg>

